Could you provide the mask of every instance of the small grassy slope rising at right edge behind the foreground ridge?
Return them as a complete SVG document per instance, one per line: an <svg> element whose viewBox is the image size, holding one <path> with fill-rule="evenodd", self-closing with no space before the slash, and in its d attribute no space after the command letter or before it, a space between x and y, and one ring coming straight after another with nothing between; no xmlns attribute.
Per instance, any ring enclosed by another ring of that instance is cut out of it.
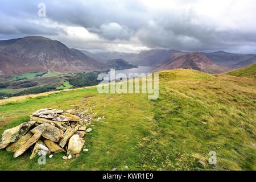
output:
<svg viewBox="0 0 256 182"><path fill-rule="evenodd" d="M226 73L238 77L256 78L256 64Z"/></svg>

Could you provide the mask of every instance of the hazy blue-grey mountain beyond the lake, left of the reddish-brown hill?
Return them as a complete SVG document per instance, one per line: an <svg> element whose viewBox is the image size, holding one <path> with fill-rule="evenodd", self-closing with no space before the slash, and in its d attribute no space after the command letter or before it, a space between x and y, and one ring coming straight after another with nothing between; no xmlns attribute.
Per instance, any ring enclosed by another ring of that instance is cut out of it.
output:
<svg viewBox="0 0 256 182"><path fill-rule="evenodd" d="M176 52L180 51L173 49L151 49L149 51L142 51L129 63L155 67L161 65L170 55L172 55L172 53Z"/></svg>

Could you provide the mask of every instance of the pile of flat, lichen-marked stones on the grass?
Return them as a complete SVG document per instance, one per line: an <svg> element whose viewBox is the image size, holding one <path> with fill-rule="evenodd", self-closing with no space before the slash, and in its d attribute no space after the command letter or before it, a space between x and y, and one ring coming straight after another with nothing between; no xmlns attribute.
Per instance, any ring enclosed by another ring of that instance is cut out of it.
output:
<svg viewBox="0 0 256 182"><path fill-rule="evenodd" d="M80 154L84 135L92 131L86 129L92 118L75 110L40 109L30 118L31 121L3 132L0 149L14 152L14 158L29 148L32 149L30 159L51 152L67 152L71 158Z"/></svg>

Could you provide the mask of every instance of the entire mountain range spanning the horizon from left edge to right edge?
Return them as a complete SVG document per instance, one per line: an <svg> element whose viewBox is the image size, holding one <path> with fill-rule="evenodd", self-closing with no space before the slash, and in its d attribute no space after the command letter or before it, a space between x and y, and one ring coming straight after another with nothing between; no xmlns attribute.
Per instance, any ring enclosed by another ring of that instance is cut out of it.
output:
<svg viewBox="0 0 256 182"><path fill-rule="evenodd" d="M151 49L136 53L100 52L68 48L63 43L40 36L0 40L0 75L44 71L77 73L109 68L151 66L156 70L187 68L220 73L256 63L254 54L224 51L188 53L174 49Z"/></svg>

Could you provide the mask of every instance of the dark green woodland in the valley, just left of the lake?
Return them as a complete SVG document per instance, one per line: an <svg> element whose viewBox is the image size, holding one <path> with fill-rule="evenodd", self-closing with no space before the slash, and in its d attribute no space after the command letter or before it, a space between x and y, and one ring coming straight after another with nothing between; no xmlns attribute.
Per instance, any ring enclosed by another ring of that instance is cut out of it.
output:
<svg viewBox="0 0 256 182"><path fill-rule="evenodd" d="M99 84L98 75L101 72L90 72L90 73L77 73L75 77L68 78L69 84L73 85L73 88L83 86L93 86Z"/></svg>

